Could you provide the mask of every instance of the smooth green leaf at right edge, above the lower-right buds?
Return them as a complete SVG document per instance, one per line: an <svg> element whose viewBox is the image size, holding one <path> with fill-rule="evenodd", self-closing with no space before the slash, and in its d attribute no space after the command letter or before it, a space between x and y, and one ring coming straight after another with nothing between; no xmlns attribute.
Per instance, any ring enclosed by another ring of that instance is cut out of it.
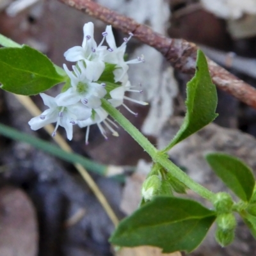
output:
<svg viewBox="0 0 256 256"><path fill-rule="evenodd" d="M243 201L250 201L255 179L252 170L240 159L223 153L205 156L212 170Z"/></svg>

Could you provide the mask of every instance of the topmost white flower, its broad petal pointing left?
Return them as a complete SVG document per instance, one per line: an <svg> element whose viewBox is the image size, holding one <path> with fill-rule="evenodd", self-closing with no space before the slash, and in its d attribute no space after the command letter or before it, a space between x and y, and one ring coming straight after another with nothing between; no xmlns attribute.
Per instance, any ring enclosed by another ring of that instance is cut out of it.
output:
<svg viewBox="0 0 256 256"><path fill-rule="evenodd" d="M107 47L103 46L103 42L106 32L102 33L103 39L100 42L99 46L97 46L94 38L94 25L92 22L88 22L84 24L84 38L82 46L74 46L68 51L64 53L64 56L67 61L79 61L84 60L86 62L86 67L90 67L91 71L97 70L100 74L102 74L105 64L102 61L104 58L104 54L106 54ZM98 77L99 78L99 77ZM95 79L97 80L97 79Z"/></svg>

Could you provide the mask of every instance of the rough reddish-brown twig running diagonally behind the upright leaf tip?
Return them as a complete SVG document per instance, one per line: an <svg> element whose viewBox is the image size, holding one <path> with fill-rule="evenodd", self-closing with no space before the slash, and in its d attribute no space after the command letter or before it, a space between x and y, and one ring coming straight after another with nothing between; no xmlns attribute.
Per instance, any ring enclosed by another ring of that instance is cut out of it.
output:
<svg viewBox="0 0 256 256"><path fill-rule="evenodd" d="M186 74L193 74L196 65L195 44L182 39L167 38L154 32L148 26L139 24L135 20L120 15L113 10L101 6L91 0L59 0L77 10L111 24L124 33L132 32L141 42L150 45L163 54L174 68ZM248 106L256 108L256 89L230 74L214 61L208 60L212 81L221 90L230 93Z"/></svg>

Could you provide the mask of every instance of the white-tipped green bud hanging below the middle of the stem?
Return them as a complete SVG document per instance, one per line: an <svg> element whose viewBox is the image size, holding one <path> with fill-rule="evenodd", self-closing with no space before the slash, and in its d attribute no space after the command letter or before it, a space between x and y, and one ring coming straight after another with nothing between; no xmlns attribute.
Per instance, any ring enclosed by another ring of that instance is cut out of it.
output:
<svg viewBox="0 0 256 256"><path fill-rule="evenodd" d="M145 201L152 200L154 195L157 195L161 187L161 180L157 175L151 175L143 183L141 194Z"/></svg>

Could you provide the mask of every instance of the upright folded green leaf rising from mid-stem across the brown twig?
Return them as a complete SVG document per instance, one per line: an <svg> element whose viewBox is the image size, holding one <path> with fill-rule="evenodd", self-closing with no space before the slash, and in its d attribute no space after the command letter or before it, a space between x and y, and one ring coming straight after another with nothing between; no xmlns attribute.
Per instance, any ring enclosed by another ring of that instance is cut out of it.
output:
<svg viewBox="0 0 256 256"><path fill-rule="evenodd" d="M187 113L184 122L171 143L162 152L167 152L180 141L211 123L218 116L215 113L217 102L216 86L212 84L207 60L204 53L198 50L196 74L187 84Z"/></svg>

